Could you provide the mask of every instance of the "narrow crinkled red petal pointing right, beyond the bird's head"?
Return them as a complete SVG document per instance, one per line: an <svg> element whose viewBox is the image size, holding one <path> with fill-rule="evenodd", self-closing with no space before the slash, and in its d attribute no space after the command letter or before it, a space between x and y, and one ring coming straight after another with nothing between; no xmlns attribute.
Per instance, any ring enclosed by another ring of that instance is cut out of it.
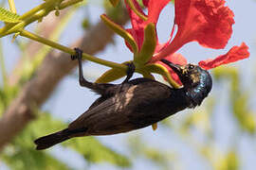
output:
<svg viewBox="0 0 256 170"><path fill-rule="evenodd" d="M243 42L240 46L233 46L227 54L221 55L215 59L201 60L198 65L203 69L209 70L240 59L247 59L248 57L248 46Z"/></svg>

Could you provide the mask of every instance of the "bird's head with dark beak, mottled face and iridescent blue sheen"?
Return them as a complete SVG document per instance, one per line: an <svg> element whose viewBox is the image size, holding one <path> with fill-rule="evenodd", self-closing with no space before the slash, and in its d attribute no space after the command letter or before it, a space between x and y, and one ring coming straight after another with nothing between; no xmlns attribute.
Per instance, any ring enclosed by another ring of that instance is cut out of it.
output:
<svg viewBox="0 0 256 170"><path fill-rule="evenodd" d="M207 70L191 63L182 66L166 59L161 59L161 61L174 70L185 89L192 89L202 83L205 88L211 89L212 80Z"/></svg>

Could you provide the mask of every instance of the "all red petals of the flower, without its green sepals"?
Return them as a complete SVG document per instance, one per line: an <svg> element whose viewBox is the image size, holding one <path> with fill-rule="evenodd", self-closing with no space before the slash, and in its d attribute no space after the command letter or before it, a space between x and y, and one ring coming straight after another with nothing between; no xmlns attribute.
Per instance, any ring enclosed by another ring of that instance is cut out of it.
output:
<svg viewBox="0 0 256 170"><path fill-rule="evenodd" d="M139 7L136 0L133 0L137 10L144 16L147 16ZM148 23L156 25L159 14L169 0L143 0L143 4L148 8L148 19L143 21L141 17L127 5L132 28L128 31L132 34L140 49L144 39L144 28ZM160 44L157 41L155 54L151 63L160 59L169 59L176 64L186 64L186 59L181 55L175 55L174 52L188 42L198 42L199 44L214 49L224 48L229 41L234 24L233 12L225 7L224 0L175 0L175 19L174 25L177 26L177 33L172 42ZM171 34L171 38L172 39ZM249 56L248 47L243 42L241 46L232 47L225 55L216 59L207 59L200 61L199 65L204 69L211 69L222 64L234 62L239 59L246 59ZM161 63L158 61L158 63ZM164 65L163 63L161 63ZM164 65L165 66L165 65ZM168 68L168 67L167 67ZM168 68L169 69L169 68ZM170 69L169 69L170 70ZM171 75L174 73L171 71Z"/></svg>

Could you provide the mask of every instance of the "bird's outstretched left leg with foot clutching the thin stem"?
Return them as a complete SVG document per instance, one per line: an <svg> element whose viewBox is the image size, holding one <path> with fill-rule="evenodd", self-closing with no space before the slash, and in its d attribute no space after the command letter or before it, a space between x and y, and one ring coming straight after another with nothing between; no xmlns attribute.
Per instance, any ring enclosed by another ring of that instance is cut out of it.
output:
<svg viewBox="0 0 256 170"><path fill-rule="evenodd" d="M101 95L108 94L108 88L113 86L112 84L100 84L100 83L92 83L87 81L82 74L82 50L79 48L74 48L76 51L75 55L71 55L71 59L78 59L79 61L79 83L82 87L89 88L96 93L100 93Z"/></svg>

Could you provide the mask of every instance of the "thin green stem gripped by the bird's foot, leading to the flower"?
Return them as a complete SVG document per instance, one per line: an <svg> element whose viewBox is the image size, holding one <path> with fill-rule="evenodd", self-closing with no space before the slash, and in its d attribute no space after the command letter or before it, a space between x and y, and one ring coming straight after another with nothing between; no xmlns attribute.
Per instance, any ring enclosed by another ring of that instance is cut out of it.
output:
<svg viewBox="0 0 256 170"><path fill-rule="evenodd" d="M70 55L75 55L75 50L73 50L71 48L68 48L68 47L66 47L66 46L64 46L60 43L49 41L49 40L47 40L43 37L40 37L36 34L33 34L29 31L27 31L27 30L22 30L20 32L20 35L23 36L23 37L27 37L28 39L34 40L36 42L42 42L42 43L44 43L48 46L51 46L53 48L64 51L65 53L69 53ZM112 62L112 61L109 61L109 60L99 59L99 58L96 58L94 56L88 55L86 53L82 53L82 58L93 61L93 62L96 62L96 63L99 63L101 65L105 65L107 67L111 67L111 68L117 68L117 69L122 69L122 70L127 69L127 66L124 65L124 64L119 64L119 63Z"/></svg>

